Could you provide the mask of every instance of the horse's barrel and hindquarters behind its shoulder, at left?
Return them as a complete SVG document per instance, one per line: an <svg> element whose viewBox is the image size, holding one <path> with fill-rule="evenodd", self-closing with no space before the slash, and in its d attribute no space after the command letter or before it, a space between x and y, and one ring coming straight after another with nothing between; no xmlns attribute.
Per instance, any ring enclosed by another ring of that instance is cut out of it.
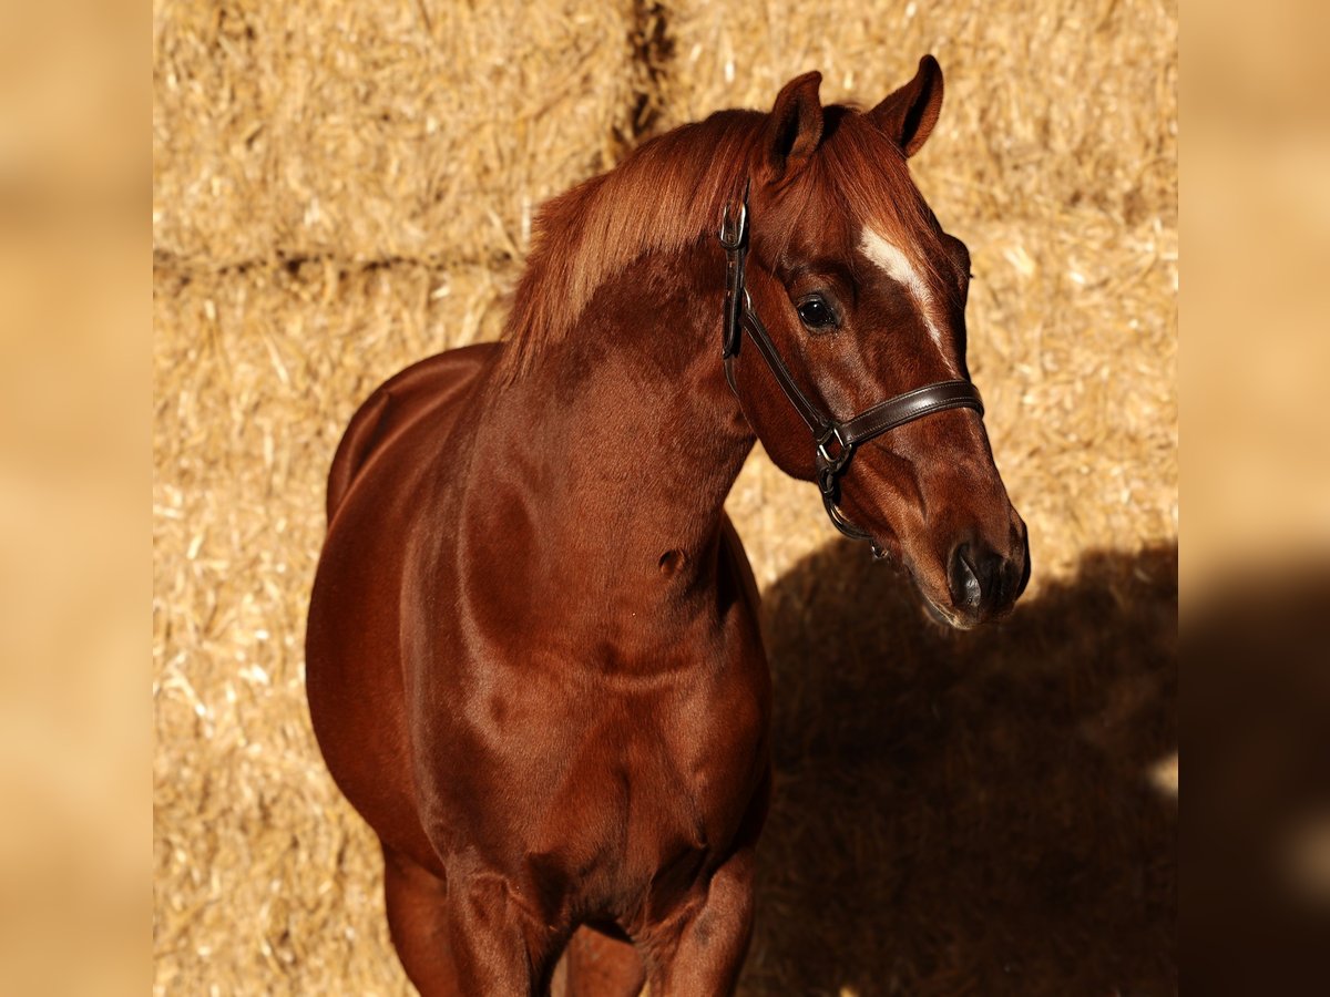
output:
<svg viewBox="0 0 1330 997"><path fill-rule="evenodd" d="M410 779L398 639L406 558L387 538L416 513L407 496L495 354L483 344L422 360L360 405L329 475L329 533L310 598L306 685L329 771L384 841L427 867L436 860Z"/></svg>

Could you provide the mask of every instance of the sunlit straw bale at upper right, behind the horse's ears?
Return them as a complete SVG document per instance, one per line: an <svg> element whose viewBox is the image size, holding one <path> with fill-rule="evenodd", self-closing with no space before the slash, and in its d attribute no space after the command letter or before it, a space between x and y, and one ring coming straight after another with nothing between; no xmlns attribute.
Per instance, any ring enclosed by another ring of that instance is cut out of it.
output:
<svg viewBox="0 0 1330 997"><path fill-rule="evenodd" d="M944 222L1089 202L1134 225L1177 213L1177 5L1170 0L672 5L661 125L766 109L806 69L823 100L871 106L932 52L946 102L927 164ZM958 210L942 209L955 206ZM959 209L964 209L963 211Z"/></svg>

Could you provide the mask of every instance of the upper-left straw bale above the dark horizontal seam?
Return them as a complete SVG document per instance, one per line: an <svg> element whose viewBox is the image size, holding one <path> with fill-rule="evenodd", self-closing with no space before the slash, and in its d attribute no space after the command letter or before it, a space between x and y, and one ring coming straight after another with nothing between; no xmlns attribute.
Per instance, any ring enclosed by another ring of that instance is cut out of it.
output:
<svg viewBox="0 0 1330 997"><path fill-rule="evenodd" d="M595 0L158 0L156 249L519 257L535 206L632 130L629 35Z"/></svg>

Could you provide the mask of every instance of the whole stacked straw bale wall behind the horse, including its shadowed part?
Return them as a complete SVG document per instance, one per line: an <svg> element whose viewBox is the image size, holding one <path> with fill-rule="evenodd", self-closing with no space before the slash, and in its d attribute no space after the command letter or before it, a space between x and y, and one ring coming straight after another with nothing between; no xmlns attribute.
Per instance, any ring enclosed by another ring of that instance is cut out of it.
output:
<svg viewBox="0 0 1330 997"><path fill-rule="evenodd" d="M154 0L157 992L408 990L302 683L359 401L496 338L535 207L644 136L810 68L871 104L924 52L914 170L974 255L1033 580L940 634L754 453L779 774L742 988L1176 990L1173 0Z"/></svg>

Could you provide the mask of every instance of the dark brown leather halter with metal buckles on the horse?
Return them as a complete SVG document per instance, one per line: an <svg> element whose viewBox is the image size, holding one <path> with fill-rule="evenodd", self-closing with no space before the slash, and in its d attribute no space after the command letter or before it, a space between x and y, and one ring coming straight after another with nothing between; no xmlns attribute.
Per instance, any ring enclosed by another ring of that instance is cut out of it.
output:
<svg viewBox="0 0 1330 997"><path fill-rule="evenodd" d="M743 201L738 210L732 210L730 205L726 205L721 215L720 241L725 250L725 338L721 343L721 359L725 362L725 379L738 396L733 364L743 342L743 334L747 332L753 346L771 370L775 383L785 392L785 397L813 433L818 491L822 492L822 504L831 524L853 540L867 540L872 545L874 557L886 557L878 542L866 530L854 525L838 505L841 475L850 465L855 448L888 429L948 408L972 408L983 416L984 403L979 396L979 388L968 380L936 382L880 401L845 421L819 408L803 393L790 368L785 366L775 343L771 342L771 335L753 310L753 302L743 286L743 263L749 249L747 195L745 186Z"/></svg>

